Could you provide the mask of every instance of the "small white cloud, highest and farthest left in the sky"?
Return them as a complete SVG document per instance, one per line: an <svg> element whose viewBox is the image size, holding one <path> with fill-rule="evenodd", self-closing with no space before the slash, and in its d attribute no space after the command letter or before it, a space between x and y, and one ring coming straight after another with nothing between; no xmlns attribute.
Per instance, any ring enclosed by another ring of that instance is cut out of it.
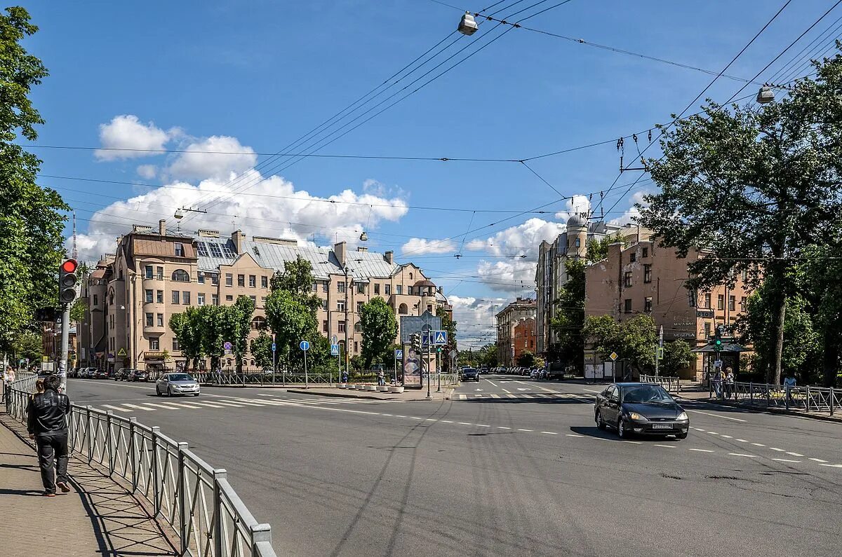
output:
<svg viewBox="0 0 842 557"><path fill-rule="evenodd" d="M152 122L143 124L134 114L115 116L108 124L99 125L99 143L104 149L163 149L169 139L166 131ZM93 155L100 161L155 156L149 151L105 151L98 149Z"/></svg>

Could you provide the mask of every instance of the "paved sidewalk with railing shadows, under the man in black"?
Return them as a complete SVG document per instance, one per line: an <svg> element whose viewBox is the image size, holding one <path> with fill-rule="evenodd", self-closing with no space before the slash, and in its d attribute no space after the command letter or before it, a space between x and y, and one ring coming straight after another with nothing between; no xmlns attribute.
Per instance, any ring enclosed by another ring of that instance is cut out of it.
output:
<svg viewBox="0 0 842 557"><path fill-rule="evenodd" d="M175 553L157 523L125 487L73 455L67 466L70 493L43 496L38 459L29 443L24 425L0 412L0 554L154 557Z"/></svg>

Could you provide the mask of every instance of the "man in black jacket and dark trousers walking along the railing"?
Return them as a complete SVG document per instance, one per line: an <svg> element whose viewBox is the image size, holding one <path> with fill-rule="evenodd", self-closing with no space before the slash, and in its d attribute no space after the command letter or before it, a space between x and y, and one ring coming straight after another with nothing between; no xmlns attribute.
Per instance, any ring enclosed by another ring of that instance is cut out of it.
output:
<svg viewBox="0 0 842 557"><path fill-rule="evenodd" d="M44 495L48 497L56 496L56 486L65 493L70 491L65 417L70 413L70 399L58 392L60 386L61 379L56 375L47 376L44 379L44 392L29 398L26 406L26 428L29 430L29 438L35 439L38 445L41 481L44 482Z"/></svg>

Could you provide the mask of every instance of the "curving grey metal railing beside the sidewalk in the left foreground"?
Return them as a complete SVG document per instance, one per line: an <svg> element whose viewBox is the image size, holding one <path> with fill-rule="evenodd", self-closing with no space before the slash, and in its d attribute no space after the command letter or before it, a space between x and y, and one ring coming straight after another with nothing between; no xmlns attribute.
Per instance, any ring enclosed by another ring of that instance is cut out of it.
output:
<svg viewBox="0 0 842 557"><path fill-rule="evenodd" d="M26 420L35 375L12 385L6 411ZM179 555L191 557L275 557L269 524L258 523L226 479L158 427L114 416L92 406L72 405L69 446L88 464L107 468L147 501L159 522L173 528Z"/></svg>

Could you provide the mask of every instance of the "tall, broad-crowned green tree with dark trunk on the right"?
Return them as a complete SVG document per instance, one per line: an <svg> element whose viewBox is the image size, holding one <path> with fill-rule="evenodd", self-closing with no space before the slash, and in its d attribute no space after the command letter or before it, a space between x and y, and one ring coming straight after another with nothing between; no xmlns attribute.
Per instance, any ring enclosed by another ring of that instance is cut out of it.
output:
<svg viewBox="0 0 842 557"><path fill-rule="evenodd" d="M791 274L807 247L835 236L842 212L842 56L816 64L775 103L708 102L704 112L663 130L663 159L647 164L658 194L641 225L690 263L691 289L733 282L746 272L769 280L767 380L780 383Z"/></svg>

